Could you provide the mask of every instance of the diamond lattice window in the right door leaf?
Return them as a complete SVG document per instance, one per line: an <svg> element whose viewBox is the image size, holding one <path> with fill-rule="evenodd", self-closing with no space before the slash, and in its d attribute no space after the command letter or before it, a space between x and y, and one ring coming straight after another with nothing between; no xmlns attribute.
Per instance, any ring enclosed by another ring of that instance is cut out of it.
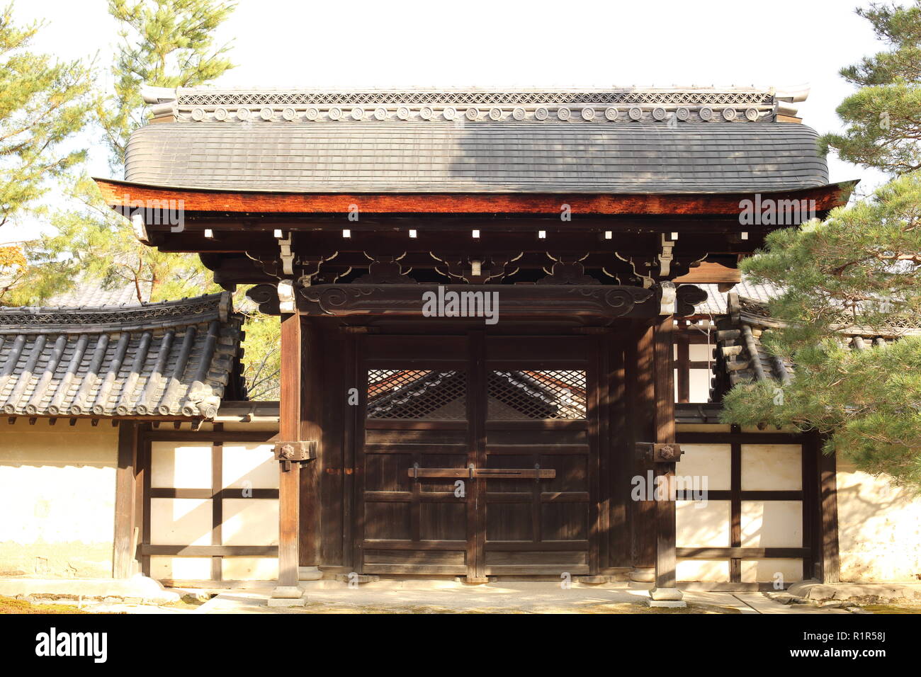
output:
<svg viewBox="0 0 921 677"><path fill-rule="evenodd" d="M496 419L586 417L585 371L491 371L487 415Z"/></svg>

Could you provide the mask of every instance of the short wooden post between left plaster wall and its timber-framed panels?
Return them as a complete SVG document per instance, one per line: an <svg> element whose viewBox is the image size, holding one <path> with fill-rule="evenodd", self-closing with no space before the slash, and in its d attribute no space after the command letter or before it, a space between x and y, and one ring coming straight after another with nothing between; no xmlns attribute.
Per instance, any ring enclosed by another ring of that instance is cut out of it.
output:
<svg viewBox="0 0 921 677"><path fill-rule="evenodd" d="M139 571L138 543L137 423L120 421L118 467L115 470L115 532L112 548L112 578L131 578Z"/></svg>

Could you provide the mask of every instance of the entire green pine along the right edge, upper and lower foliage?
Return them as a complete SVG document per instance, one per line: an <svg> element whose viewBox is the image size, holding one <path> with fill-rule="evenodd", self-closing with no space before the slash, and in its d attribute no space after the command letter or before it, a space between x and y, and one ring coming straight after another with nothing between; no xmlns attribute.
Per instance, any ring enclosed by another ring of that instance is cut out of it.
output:
<svg viewBox="0 0 921 677"><path fill-rule="evenodd" d="M921 490L921 2L857 12L892 50L842 70L860 89L838 108L845 134L824 140L896 178L824 222L772 233L741 263L783 289L769 311L786 326L762 340L796 374L737 385L723 417L818 430L826 452ZM842 331L857 328L898 338L851 350Z"/></svg>

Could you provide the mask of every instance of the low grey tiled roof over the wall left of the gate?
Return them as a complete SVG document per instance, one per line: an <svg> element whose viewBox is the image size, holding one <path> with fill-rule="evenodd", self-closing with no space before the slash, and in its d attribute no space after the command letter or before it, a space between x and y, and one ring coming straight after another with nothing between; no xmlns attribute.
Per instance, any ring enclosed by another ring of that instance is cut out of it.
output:
<svg viewBox="0 0 921 677"><path fill-rule="evenodd" d="M0 309L0 411L213 418L239 398L227 292L108 308Z"/></svg>

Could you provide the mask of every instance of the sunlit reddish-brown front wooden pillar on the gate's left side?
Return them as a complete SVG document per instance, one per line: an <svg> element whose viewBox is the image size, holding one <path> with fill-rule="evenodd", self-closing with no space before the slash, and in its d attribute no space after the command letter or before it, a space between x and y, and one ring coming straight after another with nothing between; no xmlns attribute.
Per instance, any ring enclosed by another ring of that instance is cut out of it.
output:
<svg viewBox="0 0 921 677"><path fill-rule="evenodd" d="M281 317L281 402L278 438L300 439L301 327L297 312ZM297 603L297 566L300 538L300 463L280 461L278 483L278 587L272 597ZM301 601L301 603L303 603Z"/></svg>

